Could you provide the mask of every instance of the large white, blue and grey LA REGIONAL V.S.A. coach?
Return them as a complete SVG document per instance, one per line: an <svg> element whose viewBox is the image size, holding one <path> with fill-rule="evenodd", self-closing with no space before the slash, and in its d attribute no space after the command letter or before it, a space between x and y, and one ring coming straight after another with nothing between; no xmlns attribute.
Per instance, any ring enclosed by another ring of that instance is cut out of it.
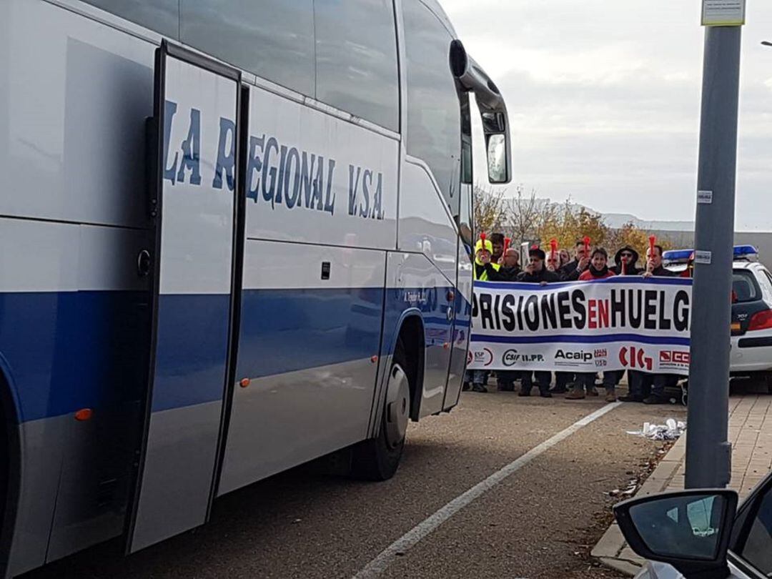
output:
<svg viewBox="0 0 772 579"><path fill-rule="evenodd" d="M0 2L2 574L392 476L462 388L472 108L506 183L436 0Z"/></svg>

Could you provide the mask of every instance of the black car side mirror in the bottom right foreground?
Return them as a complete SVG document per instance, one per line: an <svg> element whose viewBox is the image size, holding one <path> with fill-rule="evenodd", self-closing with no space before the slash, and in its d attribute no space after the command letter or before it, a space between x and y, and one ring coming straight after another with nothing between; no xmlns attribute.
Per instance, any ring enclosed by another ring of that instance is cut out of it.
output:
<svg viewBox="0 0 772 579"><path fill-rule="evenodd" d="M626 500L614 515L641 557L672 565L686 579L725 579L736 510L733 490L694 489Z"/></svg>

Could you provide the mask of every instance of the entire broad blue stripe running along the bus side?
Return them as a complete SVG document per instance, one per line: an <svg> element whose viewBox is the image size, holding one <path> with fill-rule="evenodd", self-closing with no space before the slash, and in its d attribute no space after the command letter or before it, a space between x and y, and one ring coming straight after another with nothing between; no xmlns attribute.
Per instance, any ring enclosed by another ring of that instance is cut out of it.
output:
<svg viewBox="0 0 772 579"><path fill-rule="evenodd" d="M388 289L384 348L393 341L390 324L411 306L405 293L418 291ZM161 296L159 303L153 410L218 400L228 296ZM381 288L245 290L237 378L378 354L383 304ZM431 330L427 347L450 341L443 306L429 300L418 309ZM146 316L141 292L0 293L0 356L21 422L138 401L147 376Z"/></svg>

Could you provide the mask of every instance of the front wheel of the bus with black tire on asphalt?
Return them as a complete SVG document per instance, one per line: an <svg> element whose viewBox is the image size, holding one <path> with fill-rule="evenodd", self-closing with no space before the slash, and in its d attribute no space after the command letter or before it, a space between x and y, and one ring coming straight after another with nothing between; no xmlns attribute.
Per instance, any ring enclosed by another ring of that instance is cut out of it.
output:
<svg viewBox="0 0 772 579"><path fill-rule="evenodd" d="M380 481L391 479L397 472L405 448L410 398L408 364L402 340L399 340L391 358L378 436L354 447L351 473L355 478Z"/></svg>

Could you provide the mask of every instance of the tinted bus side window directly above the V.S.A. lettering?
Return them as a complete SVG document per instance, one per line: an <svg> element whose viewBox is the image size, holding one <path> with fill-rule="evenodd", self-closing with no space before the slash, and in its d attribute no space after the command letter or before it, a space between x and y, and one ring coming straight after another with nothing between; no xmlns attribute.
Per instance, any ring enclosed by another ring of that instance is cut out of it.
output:
<svg viewBox="0 0 772 579"><path fill-rule="evenodd" d="M391 0L315 0L317 100L399 130L399 80Z"/></svg>

